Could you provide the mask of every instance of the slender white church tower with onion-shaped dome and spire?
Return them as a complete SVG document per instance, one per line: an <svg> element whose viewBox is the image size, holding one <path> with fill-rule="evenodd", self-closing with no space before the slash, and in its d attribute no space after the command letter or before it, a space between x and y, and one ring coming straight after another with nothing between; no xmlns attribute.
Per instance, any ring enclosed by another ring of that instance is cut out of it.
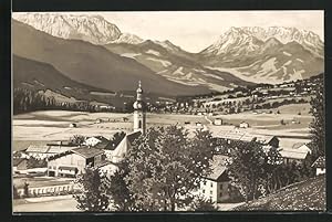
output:
<svg viewBox="0 0 332 222"><path fill-rule="evenodd" d="M134 131L142 131L142 134L145 134L146 129L146 121L145 121L145 110L146 105L143 101L143 89L141 85L141 81L138 82L138 88L136 91L137 97L136 102L134 103Z"/></svg>

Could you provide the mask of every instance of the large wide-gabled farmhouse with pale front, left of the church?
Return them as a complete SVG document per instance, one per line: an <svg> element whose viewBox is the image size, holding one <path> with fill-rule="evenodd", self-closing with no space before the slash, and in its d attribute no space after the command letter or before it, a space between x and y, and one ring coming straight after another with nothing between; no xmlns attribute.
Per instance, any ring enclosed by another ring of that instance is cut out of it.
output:
<svg viewBox="0 0 332 222"><path fill-rule="evenodd" d="M103 150L79 147L48 158L49 177L75 177L85 167L98 167L103 163Z"/></svg>

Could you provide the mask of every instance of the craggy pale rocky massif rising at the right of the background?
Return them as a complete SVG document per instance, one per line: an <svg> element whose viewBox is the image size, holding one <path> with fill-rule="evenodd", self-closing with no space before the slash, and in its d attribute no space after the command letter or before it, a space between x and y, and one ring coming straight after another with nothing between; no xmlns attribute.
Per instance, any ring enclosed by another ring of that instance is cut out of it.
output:
<svg viewBox="0 0 332 222"><path fill-rule="evenodd" d="M295 28L231 28L198 57L242 80L281 83L322 73L323 46L319 35Z"/></svg>

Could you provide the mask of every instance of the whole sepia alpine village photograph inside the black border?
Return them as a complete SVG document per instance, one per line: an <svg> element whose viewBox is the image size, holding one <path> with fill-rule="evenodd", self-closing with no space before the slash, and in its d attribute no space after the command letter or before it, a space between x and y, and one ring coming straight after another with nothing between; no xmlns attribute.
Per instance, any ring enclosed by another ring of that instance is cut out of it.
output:
<svg viewBox="0 0 332 222"><path fill-rule="evenodd" d="M325 212L323 10L12 12L12 211Z"/></svg>

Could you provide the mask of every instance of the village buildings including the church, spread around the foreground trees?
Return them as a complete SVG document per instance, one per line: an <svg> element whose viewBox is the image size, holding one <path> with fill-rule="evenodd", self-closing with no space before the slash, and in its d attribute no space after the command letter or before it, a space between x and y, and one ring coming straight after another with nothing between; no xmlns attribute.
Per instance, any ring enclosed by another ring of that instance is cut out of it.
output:
<svg viewBox="0 0 332 222"><path fill-rule="evenodd" d="M134 147L134 142L148 130L149 115L146 114L141 82L136 93L136 101L133 103L134 114L120 118L120 121L125 125L125 130L117 128L117 135L114 131L108 134L108 127L103 125L112 124L111 119L97 118L93 124L100 125L97 131L101 134L91 135L94 134L94 130L87 130L89 134L86 135L75 134L66 140L60 138L53 142L25 144L19 150L14 148L12 170L14 199L48 197L48 200L52 201L52 198L56 200L61 195L80 193L75 179L84 173L86 167L97 168L101 173L107 177L114 175L121 166L120 162ZM251 116L253 115L256 114L251 114ZM210 200L220 210L230 210L230 207L243 202L241 194L234 190L231 179L228 176L230 160L228 145L231 142L249 144L255 141L261 145L266 152L278 150L282 158L281 161L286 165L303 166L311 158L310 140L302 139L302 137L298 136L297 138L297 138L294 139L291 134L289 138L279 137L278 134L272 135L271 133L264 135L263 133L267 130L252 128L250 120L226 124L227 119L214 117L208 113L198 115L203 120L197 120L197 115L195 116L196 119L194 120L190 118L183 120L181 126L189 134L196 130L211 131L216 146L210 163L211 173L201 180L199 188L193 193ZM84 127L84 125L71 123L69 127L75 130ZM87 131L85 130L85 133ZM289 142L290 140L293 142ZM324 157L319 157L310 167L314 169L315 176L325 173Z"/></svg>

